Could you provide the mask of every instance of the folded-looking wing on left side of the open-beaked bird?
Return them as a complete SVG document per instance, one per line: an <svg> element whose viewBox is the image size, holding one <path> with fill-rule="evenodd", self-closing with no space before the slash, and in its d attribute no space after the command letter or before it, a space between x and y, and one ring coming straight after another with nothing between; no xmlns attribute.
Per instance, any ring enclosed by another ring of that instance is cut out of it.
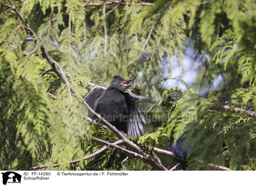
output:
<svg viewBox="0 0 256 186"><path fill-rule="evenodd" d="M85 102L92 108L94 111L96 110L99 99L102 98L106 90L103 88L96 88L88 96L84 99ZM92 116L89 116L92 118Z"/></svg>

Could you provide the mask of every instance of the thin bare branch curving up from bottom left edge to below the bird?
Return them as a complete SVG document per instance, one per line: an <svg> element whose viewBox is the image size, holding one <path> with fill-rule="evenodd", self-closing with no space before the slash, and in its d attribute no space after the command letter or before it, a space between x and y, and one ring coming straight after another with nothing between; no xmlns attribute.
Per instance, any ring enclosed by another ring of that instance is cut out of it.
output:
<svg viewBox="0 0 256 186"><path fill-rule="evenodd" d="M116 142L113 142L111 144L114 144L114 145L119 145L119 144L122 144L122 140L118 140ZM87 159L90 159L92 157L95 157L96 155L98 154L101 154L102 152L106 151L109 147L107 146L104 146L102 147L101 149L99 149L99 151L96 151L94 152L93 154L90 154L86 157L83 157L81 159L77 159L77 160L72 160L69 162L69 164L73 164L73 163L79 163L80 161L82 160L87 160ZM57 166L61 166L63 163L56 163L56 164L52 164L52 165L41 165L41 166L34 166L34 167L30 167L29 170L36 170L36 169L43 169L43 168L49 168L49 167L57 167Z"/></svg>

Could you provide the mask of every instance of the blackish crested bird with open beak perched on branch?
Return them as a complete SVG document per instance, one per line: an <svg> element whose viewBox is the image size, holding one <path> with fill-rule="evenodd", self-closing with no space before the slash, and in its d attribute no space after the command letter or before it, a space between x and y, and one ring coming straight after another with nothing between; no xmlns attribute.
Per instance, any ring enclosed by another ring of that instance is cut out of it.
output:
<svg viewBox="0 0 256 186"><path fill-rule="evenodd" d="M125 80L115 75L107 90L97 88L85 98L85 101L119 131L139 138L144 135L143 124L146 122L134 98L125 92L131 87L128 84L131 81L132 79Z"/></svg>

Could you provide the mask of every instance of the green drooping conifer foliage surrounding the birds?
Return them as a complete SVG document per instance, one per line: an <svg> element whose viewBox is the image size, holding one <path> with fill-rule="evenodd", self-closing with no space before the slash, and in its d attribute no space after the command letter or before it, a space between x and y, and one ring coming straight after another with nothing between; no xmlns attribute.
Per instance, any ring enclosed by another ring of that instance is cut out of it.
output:
<svg viewBox="0 0 256 186"><path fill-rule="evenodd" d="M255 30L253 0L0 0L0 169L168 170L174 135L188 170L256 170ZM199 92L163 67L188 49ZM167 116L140 139L87 117L114 75Z"/></svg>

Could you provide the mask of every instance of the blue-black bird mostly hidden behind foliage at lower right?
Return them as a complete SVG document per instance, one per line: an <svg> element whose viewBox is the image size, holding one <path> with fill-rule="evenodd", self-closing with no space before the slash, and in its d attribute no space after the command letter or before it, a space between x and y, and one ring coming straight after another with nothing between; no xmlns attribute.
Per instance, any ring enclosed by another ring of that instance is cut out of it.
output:
<svg viewBox="0 0 256 186"><path fill-rule="evenodd" d="M169 144L169 151L171 151L175 157L178 157L180 158L181 160L177 160L177 163L180 163L180 166L182 167L182 169L184 171L186 171L186 167L187 167L187 162L186 161L183 161L183 160L186 160L187 159L187 154L188 154L188 150L190 148L190 144L187 143L186 146L182 146L182 142L184 141L184 137L181 136L176 144L174 145L174 137L172 136L171 140L170 140L170 144Z"/></svg>

